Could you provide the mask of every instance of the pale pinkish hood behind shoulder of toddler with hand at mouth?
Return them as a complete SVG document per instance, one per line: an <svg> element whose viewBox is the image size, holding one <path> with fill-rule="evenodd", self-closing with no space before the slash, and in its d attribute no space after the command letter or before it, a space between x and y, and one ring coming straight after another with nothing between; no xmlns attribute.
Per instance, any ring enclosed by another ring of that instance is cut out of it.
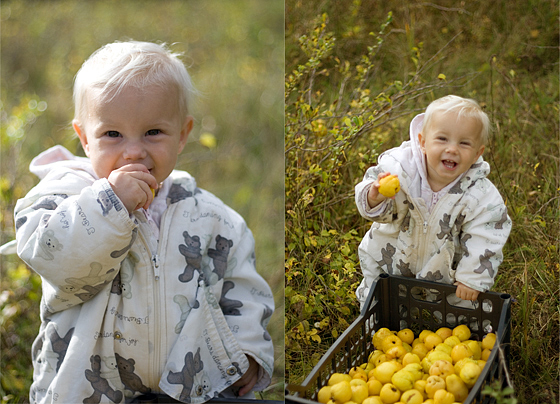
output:
<svg viewBox="0 0 560 404"><path fill-rule="evenodd" d="M86 171L97 178L88 158L74 156L68 149L60 145L53 146L35 157L29 165L29 171L43 179L51 171L62 167Z"/></svg>

